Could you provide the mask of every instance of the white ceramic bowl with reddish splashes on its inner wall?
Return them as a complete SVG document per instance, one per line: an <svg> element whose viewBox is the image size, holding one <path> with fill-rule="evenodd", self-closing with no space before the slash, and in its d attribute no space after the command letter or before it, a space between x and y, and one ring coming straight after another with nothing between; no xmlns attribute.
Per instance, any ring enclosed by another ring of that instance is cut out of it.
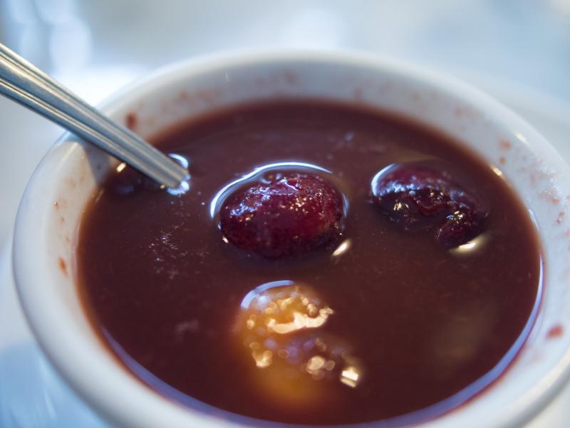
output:
<svg viewBox="0 0 570 428"><path fill-rule="evenodd" d="M117 121L138 118L144 137L219 106L268 98L356 101L430 124L497 165L536 219L544 246L544 298L532 334L507 372L467 404L425 427L514 427L560 389L570 363L570 168L522 119L448 76L356 54L234 54L179 63L108 101ZM33 174L14 237L14 272L38 342L58 372L109 422L128 427L236 427L253 419L187 409L118 364L78 300L78 224L115 161L64 136Z"/></svg>

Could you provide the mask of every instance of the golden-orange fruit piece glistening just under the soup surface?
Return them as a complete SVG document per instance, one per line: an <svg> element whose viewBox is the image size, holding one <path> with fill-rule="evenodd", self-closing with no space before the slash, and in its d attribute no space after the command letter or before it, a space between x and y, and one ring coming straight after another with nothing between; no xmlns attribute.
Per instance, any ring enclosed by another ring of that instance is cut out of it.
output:
<svg viewBox="0 0 570 428"><path fill-rule="evenodd" d="M249 292L234 333L251 361L254 387L285 406L334 399L333 383L356 387L361 362L346 340L323 330L333 314L311 287L291 281Z"/></svg>

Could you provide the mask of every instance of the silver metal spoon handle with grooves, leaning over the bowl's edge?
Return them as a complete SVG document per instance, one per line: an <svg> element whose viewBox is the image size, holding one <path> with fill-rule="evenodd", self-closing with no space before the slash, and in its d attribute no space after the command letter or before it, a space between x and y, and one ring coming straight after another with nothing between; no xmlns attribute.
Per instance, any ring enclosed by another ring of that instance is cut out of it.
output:
<svg viewBox="0 0 570 428"><path fill-rule="evenodd" d="M63 126L168 188L188 171L0 44L0 93Z"/></svg>

